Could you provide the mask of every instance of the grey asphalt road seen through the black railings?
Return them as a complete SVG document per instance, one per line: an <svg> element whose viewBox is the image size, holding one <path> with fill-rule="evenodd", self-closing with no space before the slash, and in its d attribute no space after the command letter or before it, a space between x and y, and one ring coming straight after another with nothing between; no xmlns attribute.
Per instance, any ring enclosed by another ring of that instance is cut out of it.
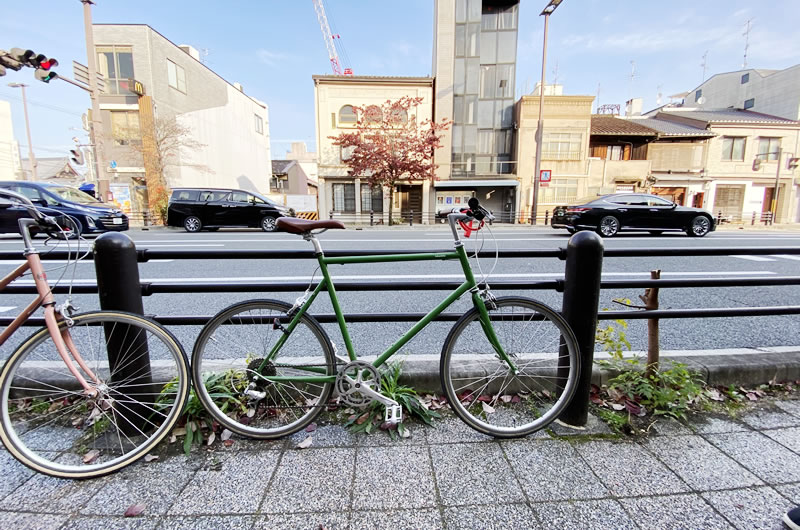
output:
<svg viewBox="0 0 800 530"><path fill-rule="evenodd" d="M268 234L257 230L220 230L215 233L188 234L182 230L152 229L127 232L138 248L152 249L310 249L309 243L290 234ZM501 249L553 249L566 246L568 235L550 228L496 226L494 240ZM494 249L492 237L485 234L484 249ZM470 238L470 240L474 239ZM324 249L414 249L420 251L452 248L452 238L445 226L401 228L365 228L329 231L320 237ZM43 239L36 240L38 244ZM467 248L472 249L472 241ZM719 230L705 238L688 238L683 234L622 234L604 240L606 248L663 248L663 247L800 247L800 230ZM14 250L21 246L19 237L0 236L0 249ZM481 267L488 272L493 259L482 259ZM0 273L6 274L19 262L0 262ZM473 265L476 275L480 276ZM47 262L48 277L56 281L64 272L64 264ZM316 262L313 260L163 260L140 264L142 280L203 281L308 281ZM693 258L607 258L603 264L605 279L643 279L649 271L661 269L663 278L742 277L766 278L796 276L800 273L800 255L720 256ZM61 279L73 275L76 282L94 279L93 262L79 263ZM457 262L381 263L369 265L332 266L335 279L407 281L457 280L461 270ZM498 280L535 280L563 277L564 262L556 258L501 259L491 278ZM643 289L601 292L600 307L619 309L614 298L638 300ZM497 295L514 294L498 291ZM531 291L527 295L560 308L561 294L550 291ZM277 298L289 302L300 293L215 293L160 294L146 297L145 312L153 315L212 315L231 303L250 298ZM346 313L425 312L445 297L443 291L406 292L343 292L339 293ZM57 298L63 299L60 295ZM30 299L29 295L2 295L0 315L11 316ZM99 307L95 295L76 295L74 304L81 310ZM744 306L796 305L800 301L800 286L715 289L662 289L662 308L722 308ZM467 299L456 302L449 312L462 312L469 306ZM330 313L330 303L323 294L312 307L312 313ZM374 354L390 345L409 323L353 324L351 333L357 352ZM343 342L336 326L325 326L333 341L343 351ZM433 324L411 341L407 353L438 353L450 324ZM191 350L199 333L196 327L171 328ZM28 330L17 334L26 335ZM632 349L646 348L646 323L630 321L627 330ZM9 341L14 343L14 338ZM717 349L762 346L800 345L800 316L770 316L745 318L708 318L703 320L672 319L661 321L662 349ZM0 350L8 355L11 344Z"/></svg>

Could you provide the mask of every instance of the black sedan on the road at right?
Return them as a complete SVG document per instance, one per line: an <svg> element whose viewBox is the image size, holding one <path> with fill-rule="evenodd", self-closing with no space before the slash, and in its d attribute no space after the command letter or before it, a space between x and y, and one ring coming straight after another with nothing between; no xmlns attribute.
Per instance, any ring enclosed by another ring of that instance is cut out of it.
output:
<svg viewBox="0 0 800 530"><path fill-rule="evenodd" d="M703 237L716 229L714 217L707 211L679 206L647 193L615 193L557 206L551 224L553 228L566 228L571 234L595 230L603 237L612 237L623 230L653 235L681 230L691 237Z"/></svg>

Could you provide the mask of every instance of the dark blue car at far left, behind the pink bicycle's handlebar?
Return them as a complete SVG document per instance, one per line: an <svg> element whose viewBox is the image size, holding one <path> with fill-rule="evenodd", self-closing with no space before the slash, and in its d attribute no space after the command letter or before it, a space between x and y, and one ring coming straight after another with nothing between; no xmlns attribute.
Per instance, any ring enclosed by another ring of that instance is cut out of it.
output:
<svg viewBox="0 0 800 530"><path fill-rule="evenodd" d="M0 181L0 188L28 197L48 215L66 214L77 221L82 234L128 229L128 216L78 188L54 182ZM30 217L22 206L0 210L0 233L18 233L18 221Z"/></svg>

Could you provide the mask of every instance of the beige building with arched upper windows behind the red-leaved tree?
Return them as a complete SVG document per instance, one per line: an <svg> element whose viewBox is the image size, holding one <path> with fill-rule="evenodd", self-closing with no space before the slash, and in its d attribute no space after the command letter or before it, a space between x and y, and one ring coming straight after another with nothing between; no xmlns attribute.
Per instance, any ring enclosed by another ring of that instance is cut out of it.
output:
<svg viewBox="0 0 800 530"><path fill-rule="evenodd" d="M371 190L366 179L348 175L344 159L347 153L333 145L331 136L355 127L354 107L380 106L387 100L404 96L422 98L417 107L417 120L433 114L433 79L430 77L379 77L315 75L314 105L319 161L318 201L320 217L332 216L346 222L366 223L370 211L375 221L388 223L387 190ZM414 222L428 222L431 212L431 182L408 181L394 193L393 213L408 219L413 211Z"/></svg>

